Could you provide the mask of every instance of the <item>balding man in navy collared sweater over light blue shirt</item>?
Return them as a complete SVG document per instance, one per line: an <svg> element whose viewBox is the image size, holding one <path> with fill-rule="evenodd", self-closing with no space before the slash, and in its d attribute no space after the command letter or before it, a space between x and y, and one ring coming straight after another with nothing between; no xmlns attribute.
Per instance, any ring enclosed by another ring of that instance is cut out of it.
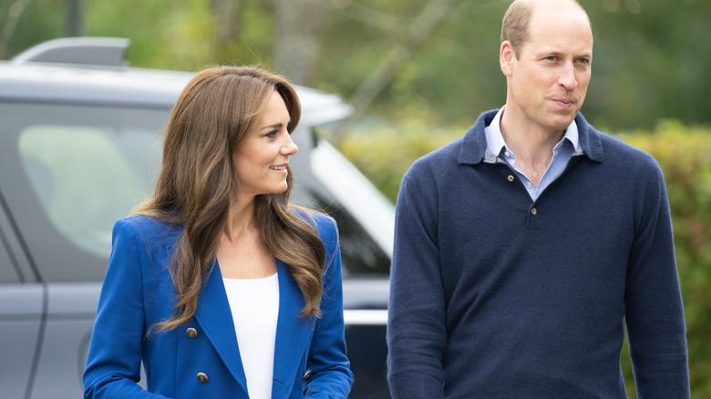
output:
<svg viewBox="0 0 711 399"><path fill-rule="evenodd" d="M689 396L662 172L579 114L593 33L573 0L504 17L506 105L418 159L397 199L394 398Z"/></svg>

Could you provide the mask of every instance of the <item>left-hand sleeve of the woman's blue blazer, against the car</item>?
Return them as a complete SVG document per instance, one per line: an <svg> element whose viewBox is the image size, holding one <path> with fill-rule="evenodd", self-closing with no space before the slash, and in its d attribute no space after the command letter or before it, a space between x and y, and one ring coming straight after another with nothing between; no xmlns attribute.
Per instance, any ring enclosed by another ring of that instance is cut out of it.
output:
<svg viewBox="0 0 711 399"><path fill-rule="evenodd" d="M108 271L91 333L85 398L164 398L150 394L140 380L142 342L146 332L141 261L147 251L129 220L114 225Z"/></svg>

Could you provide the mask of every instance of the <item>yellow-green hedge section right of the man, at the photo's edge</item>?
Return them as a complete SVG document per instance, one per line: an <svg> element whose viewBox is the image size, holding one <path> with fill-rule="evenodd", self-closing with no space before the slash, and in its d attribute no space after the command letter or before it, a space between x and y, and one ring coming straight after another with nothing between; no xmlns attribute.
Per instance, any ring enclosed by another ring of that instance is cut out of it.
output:
<svg viewBox="0 0 711 399"><path fill-rule="evenodd" d="M711 397L711 128L662 121L620 138L654 156L665 172L684 294L693 397Z"/></svg>

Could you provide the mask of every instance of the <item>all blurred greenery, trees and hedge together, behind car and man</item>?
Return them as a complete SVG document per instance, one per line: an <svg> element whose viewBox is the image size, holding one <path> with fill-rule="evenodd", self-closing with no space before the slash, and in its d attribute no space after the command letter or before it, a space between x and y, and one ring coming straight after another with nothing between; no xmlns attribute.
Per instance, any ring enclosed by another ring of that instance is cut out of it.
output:
<svg viewBox="0 0 711 399"><path fill-rule="evenodd" d="M130 64L197 70L274 63L275 8L290 0L0 0L0 59L78 31L131 39ZM406 40L437 0L291 0L318 13L313 67L296 83L346 99ZM240 5L233 36L217 5ZM711 1L580 0L593 22L593 79L585 116L650 152L665 170L685 296L693 395L711 397ZM78 5L79 18L68 15ZM387 197L417 157L459 138L479 112L505 100L498 52L510 0L453 2L349 129L329 137ZM68 26L77 20L78 26ZM222 22L221 22L222 21ZM308 24L306 24L308 23ZM299 26L296 24L295 26ZM224 26L222 26L224 27ZM298 32L295 32L298 34ZM288 36L288 35L286 35ZM288 71L278 72L289 76ZM641 130L633 130L641 129ZM625 366L626 373L629 367ZM634 393L634 390L632 391Z"/></svg>

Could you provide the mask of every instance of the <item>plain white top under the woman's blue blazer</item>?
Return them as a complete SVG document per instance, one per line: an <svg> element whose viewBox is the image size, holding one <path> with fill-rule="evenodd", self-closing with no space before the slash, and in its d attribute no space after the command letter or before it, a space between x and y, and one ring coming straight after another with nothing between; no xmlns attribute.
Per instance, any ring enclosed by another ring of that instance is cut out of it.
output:
<svg viewBox="0 0 711 399"><path fill-rule="evenodd" d="M270 399L274 367L279 279L225 279L234 331L242 356L250 399Z"/></svg>

